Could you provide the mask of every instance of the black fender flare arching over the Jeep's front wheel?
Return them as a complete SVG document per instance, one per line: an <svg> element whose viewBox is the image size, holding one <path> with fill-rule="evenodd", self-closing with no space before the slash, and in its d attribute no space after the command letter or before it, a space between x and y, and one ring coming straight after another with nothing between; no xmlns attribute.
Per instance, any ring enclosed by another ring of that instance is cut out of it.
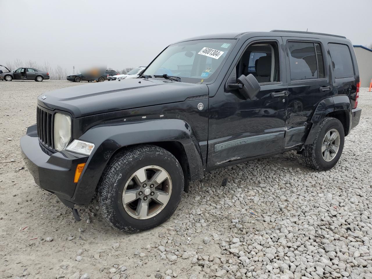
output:
<svg viewBox="0 0 372 279"><path fill-rule="evenodd" d="M186 153L190 180L203 176L203 163L198 141L191 126L180 119L156 119L142 122L110 122L86 131L79 140L94 143L86 168L76 185L73 201L87 205L93 198L96 186L110 158L117 150L129 145L156 144L176 141Z"/></svg>

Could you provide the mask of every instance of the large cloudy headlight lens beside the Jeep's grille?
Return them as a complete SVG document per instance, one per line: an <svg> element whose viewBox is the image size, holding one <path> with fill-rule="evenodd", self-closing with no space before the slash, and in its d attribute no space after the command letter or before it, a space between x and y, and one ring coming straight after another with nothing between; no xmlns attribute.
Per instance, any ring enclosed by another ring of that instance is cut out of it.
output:
<svg viewBox="0 0 372 279"><path fill-rule="evenodd" d="M71 139L71 118L62 113L54 115L54 148L62 151Z"/></svg>

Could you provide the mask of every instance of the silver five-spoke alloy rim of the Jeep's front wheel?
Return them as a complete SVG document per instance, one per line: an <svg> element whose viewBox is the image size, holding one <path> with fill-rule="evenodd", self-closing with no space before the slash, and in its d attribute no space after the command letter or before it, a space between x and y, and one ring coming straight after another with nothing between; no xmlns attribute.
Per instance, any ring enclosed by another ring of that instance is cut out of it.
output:
<svg viewBox="0 0 372 279"><path fill-rule="evenodd" d="M133 218L148 219L160 213L172 192L169 173L159 166L137 170L128 179L122 194L125 211Z"/></svg>

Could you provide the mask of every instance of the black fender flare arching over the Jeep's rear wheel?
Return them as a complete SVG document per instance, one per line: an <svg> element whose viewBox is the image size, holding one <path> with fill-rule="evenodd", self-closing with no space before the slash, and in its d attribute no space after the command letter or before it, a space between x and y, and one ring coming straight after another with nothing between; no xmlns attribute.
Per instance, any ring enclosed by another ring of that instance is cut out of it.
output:
<svg viewBox="0 0 372 279"><path fill-rule="evenodd" d="M343 112L345 114L345 120L346 120L346 133L347 135L350 132L351 129L351 104L349 97L346 95L340 95L340 96L333 96L328 97L320 101L317 108L314 111L314 114L311 117L310 120L310 131L308 132L308 135L305 140L306 144L312 144L315 139L315 135L317 134L319 127L321 123L323 122L324 118L329 113L332 112Z"/></svg>

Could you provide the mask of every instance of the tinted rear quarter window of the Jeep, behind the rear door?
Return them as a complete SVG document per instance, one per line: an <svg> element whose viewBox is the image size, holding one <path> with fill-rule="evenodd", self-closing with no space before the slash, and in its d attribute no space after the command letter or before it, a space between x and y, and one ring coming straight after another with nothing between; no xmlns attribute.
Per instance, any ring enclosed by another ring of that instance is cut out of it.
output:
<svg viewBox="0 0 372 279"><path fill-rule="evenodd" d="M354 67L349 47L332 43L328 44L328 47L331 53L334 77L353 77Z"/></svg>

